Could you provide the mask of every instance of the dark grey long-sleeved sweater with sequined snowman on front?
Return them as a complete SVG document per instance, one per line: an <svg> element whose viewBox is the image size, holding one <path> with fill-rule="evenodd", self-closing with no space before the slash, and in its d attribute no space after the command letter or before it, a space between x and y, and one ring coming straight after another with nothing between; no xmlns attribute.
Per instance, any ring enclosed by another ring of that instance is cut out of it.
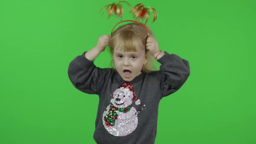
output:
<svg viewBox="0 0 256 144"><path fill-rule="evenodd" d="M70 62L68 75L75 88L99 96L95 142L154 144L159 102L181 88L190 75L189 62L165 52L158 59L160 71L141 73L131 82L125 82L114 69L98 68L84 54ZM123 83L133 88L121 88ZM135 104L135 97L140 100L139 105Z"/></svg>

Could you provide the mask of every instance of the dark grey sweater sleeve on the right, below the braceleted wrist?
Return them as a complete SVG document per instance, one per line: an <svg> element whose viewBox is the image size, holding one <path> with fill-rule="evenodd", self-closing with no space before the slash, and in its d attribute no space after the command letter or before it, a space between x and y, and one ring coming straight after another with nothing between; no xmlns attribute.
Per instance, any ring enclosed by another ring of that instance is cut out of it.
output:
<svg viewBox="0 0 256 144"><path fill-rule="evenodd" d="M186 82L190 75L189 62L175 54L165 52L158 59L160 65L160 89L162 97L176 92Z"/></svg>

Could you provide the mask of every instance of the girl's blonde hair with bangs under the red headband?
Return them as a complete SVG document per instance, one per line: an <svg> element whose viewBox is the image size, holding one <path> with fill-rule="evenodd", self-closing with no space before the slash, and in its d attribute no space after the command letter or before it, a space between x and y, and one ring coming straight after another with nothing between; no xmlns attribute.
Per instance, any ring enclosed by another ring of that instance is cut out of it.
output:
<svg viewBox="0 0 256 144"><path fill-rule="evenodd" d="M144 25L149 32L150 36L154 36L151 28L148 25ZM124 49L125 52L136 52L136 42L141 45L141 49L145 49L145 58L148 60L142 66L141 72L152 72L152 56L146 49L146 41L148 38L148 33L146 30L139 25L138 23L128 23L122 26L119 26L114 33L112 33L112 38L109 43L110 52L113 56L115 45L118 44L121 49ZM114 61L111 62L112 67L114 68ZM115 68L114 68L115 69Z"/></svg>

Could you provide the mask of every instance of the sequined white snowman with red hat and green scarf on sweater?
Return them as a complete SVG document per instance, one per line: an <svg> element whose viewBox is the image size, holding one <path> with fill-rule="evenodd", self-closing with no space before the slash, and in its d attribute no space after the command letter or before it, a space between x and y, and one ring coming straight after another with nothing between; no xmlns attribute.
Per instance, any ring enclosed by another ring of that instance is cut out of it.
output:
<svg viewBox="0 0 256 144"><path fill-rule="evenodd" d="M123 83L113 93L110 105L107 106L102 116L102 122L108 133L114 136L131 134L138 125L138 113L131 105L134 99L136 105L141 101L135 97L133 86Z"/></svg>

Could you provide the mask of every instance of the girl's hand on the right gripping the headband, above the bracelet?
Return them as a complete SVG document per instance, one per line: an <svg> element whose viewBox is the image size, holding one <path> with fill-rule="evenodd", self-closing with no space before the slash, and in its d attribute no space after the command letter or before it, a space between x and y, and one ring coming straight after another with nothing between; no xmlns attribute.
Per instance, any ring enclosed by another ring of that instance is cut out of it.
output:
<svg viewBox="0 0 256 144"><path fill-rule="evenodd" d="M160 49L158 48L158 42L156 39L153 37L148 37L147 42L146 42L146 49L150 52L152 56L158 55L160 52Z"/></svg>

